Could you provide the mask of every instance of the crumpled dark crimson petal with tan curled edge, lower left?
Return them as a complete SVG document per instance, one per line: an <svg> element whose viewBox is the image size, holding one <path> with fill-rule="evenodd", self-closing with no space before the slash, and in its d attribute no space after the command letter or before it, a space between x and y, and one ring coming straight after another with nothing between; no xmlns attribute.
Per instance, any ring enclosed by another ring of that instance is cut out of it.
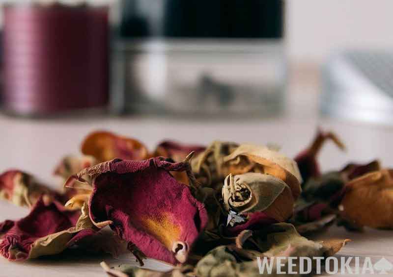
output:
<svg viewBox="0 0 393 277"><path fill-rule="evenodd" d="M45 204L40 198L28 216L18 221L7 220L0 225L3 234L0 253L17 261L56 254L90 235L93 232L91 227L93 224L86 207L81 215L80 211L67 210L56 201Z"/></svg>

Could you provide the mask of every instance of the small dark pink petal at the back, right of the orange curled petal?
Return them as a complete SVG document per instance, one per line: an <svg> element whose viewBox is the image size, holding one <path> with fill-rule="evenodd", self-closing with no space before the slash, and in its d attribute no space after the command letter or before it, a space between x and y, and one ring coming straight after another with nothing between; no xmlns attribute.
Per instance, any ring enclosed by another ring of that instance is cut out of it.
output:
<svg viewBox="0 0 393 277"><path fill-rule="evenodd" d="M199 154L200 152L203 152L206 149L206 147L201 146L201 145L186 145L186 144L180 144L175 141L163 141L161 142L156 150L153 153L153 156L159 157L168 157L174 160L175 162L181 162L183 161L187 155L191 152L194 152L195 154Z"/></svg>

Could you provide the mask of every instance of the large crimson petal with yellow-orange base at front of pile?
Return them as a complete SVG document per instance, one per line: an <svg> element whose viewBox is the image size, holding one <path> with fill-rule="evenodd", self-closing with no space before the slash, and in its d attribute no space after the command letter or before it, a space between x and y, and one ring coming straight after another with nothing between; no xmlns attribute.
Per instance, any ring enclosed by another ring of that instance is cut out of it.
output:
<svg viewBox="0 0 393 277"><path fill-rule="evenodd" d="M112 229L147 257L183 263L207 224L202 203L169 171L188 171L187 162L164 157L143 161L114 159L86 169L67 181L92 176L90 217L96 224L111 221ZM190 173L191 174L191 173Z"/></svg>

